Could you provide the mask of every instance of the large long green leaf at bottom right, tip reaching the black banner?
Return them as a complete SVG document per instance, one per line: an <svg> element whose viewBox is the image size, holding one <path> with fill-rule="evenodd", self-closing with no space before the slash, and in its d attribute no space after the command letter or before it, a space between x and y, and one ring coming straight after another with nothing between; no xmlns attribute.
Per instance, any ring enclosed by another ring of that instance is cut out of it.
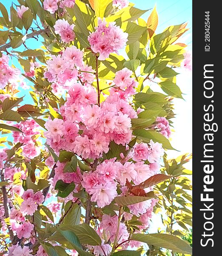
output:
<svg viewBox="0 0 222 256"><path fill-rule="evenodd" d="M177 253L192 254L192 248L184 240L168 234L133 234L131 240L140 241L158 247L173 250Z"/></svg>

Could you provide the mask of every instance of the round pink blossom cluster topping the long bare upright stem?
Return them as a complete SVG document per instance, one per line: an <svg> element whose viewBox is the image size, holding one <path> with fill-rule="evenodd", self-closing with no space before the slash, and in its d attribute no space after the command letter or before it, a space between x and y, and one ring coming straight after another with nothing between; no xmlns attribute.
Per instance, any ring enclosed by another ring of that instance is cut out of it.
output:
<svg viewBox="0 0 222 256"><path fill-rule="evenodd" d="M122 49L128 41L128 34L123 32L115 22L107 24L105 19L98 19L96 31L90 33L88 41L95 53L100 53L99 60L105 60L110 53Z"/></svg>

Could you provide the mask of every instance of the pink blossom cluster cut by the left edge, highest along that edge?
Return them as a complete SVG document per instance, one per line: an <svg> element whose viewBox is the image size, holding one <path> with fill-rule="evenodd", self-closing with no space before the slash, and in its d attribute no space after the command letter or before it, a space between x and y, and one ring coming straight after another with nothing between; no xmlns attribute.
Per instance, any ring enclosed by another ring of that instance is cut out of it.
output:
<svg viewBox="0 0 222 256"><path fill-rule="evenodd" d="M9 56L2 55L0 57L0 89L6 87L7 84L14 82L20 75L20 70L9 66Z"/></svg>

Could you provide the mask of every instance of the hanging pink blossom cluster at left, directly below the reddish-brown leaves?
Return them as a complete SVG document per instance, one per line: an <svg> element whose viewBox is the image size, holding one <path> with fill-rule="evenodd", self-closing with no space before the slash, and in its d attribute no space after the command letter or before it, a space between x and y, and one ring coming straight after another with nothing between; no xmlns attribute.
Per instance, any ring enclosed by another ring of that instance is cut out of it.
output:
<svg viewBox="0 0 222 256"><path fill-rule="evenodd" d="M13 131L14 143L22 143L24 157L34 158L40 154L40 144L37 138L40 136L40 126L33 119L14 124L21 132Z"/></svg>

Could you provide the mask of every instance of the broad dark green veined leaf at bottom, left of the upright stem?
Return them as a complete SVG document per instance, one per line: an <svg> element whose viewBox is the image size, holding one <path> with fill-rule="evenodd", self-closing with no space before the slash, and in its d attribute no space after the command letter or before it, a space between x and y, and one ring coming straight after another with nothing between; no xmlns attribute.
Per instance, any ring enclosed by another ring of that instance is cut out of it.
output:
<svg viewBox="0 0 222 256"><path fill-rule="evenodd" d="M77 226L67 226L62 229L70 228L77 235L81 244L89 244L89 245L101 245L102 241L100 236L96 233L96 231L90 227L88 224L80 224Z"/></svg>

